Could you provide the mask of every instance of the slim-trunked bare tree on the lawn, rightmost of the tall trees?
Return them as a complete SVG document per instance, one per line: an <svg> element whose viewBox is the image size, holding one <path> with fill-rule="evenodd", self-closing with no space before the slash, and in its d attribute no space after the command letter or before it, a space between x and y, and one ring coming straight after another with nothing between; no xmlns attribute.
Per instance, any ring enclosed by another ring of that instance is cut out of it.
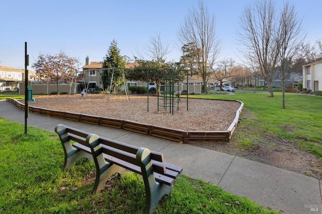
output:
<svg viewBox="0 0 322 214"><path fill-rule="evenodd" d="M284 4L284 9L281 11L280 24L278 30L279 38L279 58L278 63L281 69L282 77L282 108L285 109L285 79L291 75L300 61L293 61L298 56L299 49L305 35L301 29L302 21L297 19L294 11L294 6L288 2ZM294 64L295 62L295 64Z"/></svg>

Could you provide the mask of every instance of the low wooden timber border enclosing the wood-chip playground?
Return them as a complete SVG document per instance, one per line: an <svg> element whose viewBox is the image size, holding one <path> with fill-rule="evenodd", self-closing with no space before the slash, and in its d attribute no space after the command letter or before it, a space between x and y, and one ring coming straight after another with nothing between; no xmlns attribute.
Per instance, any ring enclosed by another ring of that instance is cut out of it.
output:
<svg viewBox="0 0 322 214"><path fill-rule="evenodd" d="M14 98L7 97L6 101L14 103L20 109L25 109L25 104L21 103L20 101ZM129 120L78 114L78 113L72 113L72 112L63 112L63 111L56 111L56 110L50 110L50 109L42 109L35 106L29 106L29 112L71 120L71 121L106 126L106 127L116 128L116 129L124 129L127 131L149 135L157 138L167 139L167 140L180 142L180 143L192 143L192 142L198 142L198 141L214 141L214 140L225 140L226 142L229 142L232 133L235 131L237 127L239 116L241 111L243 110L244 103L239 100L225 100L225 101L240 102L240 107L236 112L235 119L233 120L233 122L231 123L231 125L226 131L184 131L184 130L166 128L166 127L155 126L150 124L143 124L143 123L133 122Z"/></svg>

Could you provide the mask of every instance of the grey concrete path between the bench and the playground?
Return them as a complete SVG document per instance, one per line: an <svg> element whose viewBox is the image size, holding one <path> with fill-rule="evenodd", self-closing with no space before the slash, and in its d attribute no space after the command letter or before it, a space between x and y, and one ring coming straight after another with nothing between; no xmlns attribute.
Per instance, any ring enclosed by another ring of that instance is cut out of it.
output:
<svg viewBox="0 0 322 214"><path fill-rule="evenodd" d="M25 112L0 101L0 117L25 123ZM102 137L162 152L165 160L183 167L183 174L201 178L232 194L245 196L282 213L322 213L321 181L244 158L200 147L64 119L29 113L28 126L54 132L64 124Z"/></svg>

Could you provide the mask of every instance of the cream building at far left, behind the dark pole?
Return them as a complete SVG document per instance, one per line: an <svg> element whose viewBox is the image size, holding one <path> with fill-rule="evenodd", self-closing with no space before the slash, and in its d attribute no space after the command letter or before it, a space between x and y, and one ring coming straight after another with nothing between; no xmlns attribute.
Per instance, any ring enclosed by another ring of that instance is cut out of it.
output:
<svg viewBox="0 0 322 214"><path fill-rule="evenodd" d="M36 72L28 69L28 79ZM25 81L25 70L13 67L0 66L0 91L19 88L19 83Z"/></svg>

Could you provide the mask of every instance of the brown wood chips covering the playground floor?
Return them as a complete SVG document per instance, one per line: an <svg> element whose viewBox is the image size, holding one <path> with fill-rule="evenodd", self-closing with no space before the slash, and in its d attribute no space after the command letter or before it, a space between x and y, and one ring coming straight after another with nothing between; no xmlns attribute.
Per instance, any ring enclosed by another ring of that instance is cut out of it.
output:
<svg viewBox="0 0 322 214"><path fill-rule="evenodd" d="M34 96L35 102L29 105L74 112L139 123L157 125L185 131L224 131L227 130L240 107L240 102L230 100L208 100L181 98L179 110L174 107L174 114L170 109L159 106L157 111L157 97L149 96L147 112L147 96L89 94L86 99L81 95L46 95ZM163 100L159 100L163 103ZM175 102L177 103L177 102Z"/></svg>

